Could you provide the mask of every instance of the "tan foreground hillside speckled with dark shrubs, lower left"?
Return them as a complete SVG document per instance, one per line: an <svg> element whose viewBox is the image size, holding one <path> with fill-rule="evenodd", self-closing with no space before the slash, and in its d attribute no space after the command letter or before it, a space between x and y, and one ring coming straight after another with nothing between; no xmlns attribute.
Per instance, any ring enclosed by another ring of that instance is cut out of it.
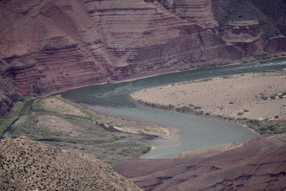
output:
<svg viewBox="0 0 286 191"><path fill-rule="evenodd" d="M141 190L100 160L27 137L0 142L0 190Z"/></svg>

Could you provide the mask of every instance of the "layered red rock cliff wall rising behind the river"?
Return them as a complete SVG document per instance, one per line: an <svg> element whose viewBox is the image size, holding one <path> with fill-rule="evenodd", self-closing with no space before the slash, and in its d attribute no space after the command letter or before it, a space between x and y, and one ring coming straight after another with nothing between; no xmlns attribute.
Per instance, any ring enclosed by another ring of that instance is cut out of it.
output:
<svg viewBox="0 0 286 191"><path fill-rule="evenodd" d="M270 13L256 1L233 3L0 1L0 115L19 95L285 51L285 2Z"/></svg>

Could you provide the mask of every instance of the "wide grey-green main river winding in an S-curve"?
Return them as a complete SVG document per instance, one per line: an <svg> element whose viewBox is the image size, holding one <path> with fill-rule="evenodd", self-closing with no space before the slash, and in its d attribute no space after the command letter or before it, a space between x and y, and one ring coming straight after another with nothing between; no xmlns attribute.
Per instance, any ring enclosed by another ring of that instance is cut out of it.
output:
<svg viewBox="0 0 286 191"><path fill-rule="evenodd" d="M201 68L130 82L87 86L67 90L61 92L61 94L63 98L81 103L96 113L123 119L146 121L177 129L180 134L180 146L172 147L169 145L160 149L152 149L149 153L142 156L144 158L171 158L192 149L248 141L257 135L235 123L146 106L129 99L128 95L130 93L142 88L186 80L245 72L285 71L285 68L286 60L281 59L252 65ZM152 143L152 141L147 143L151 145L157 144L155 142Z"/></svg>

